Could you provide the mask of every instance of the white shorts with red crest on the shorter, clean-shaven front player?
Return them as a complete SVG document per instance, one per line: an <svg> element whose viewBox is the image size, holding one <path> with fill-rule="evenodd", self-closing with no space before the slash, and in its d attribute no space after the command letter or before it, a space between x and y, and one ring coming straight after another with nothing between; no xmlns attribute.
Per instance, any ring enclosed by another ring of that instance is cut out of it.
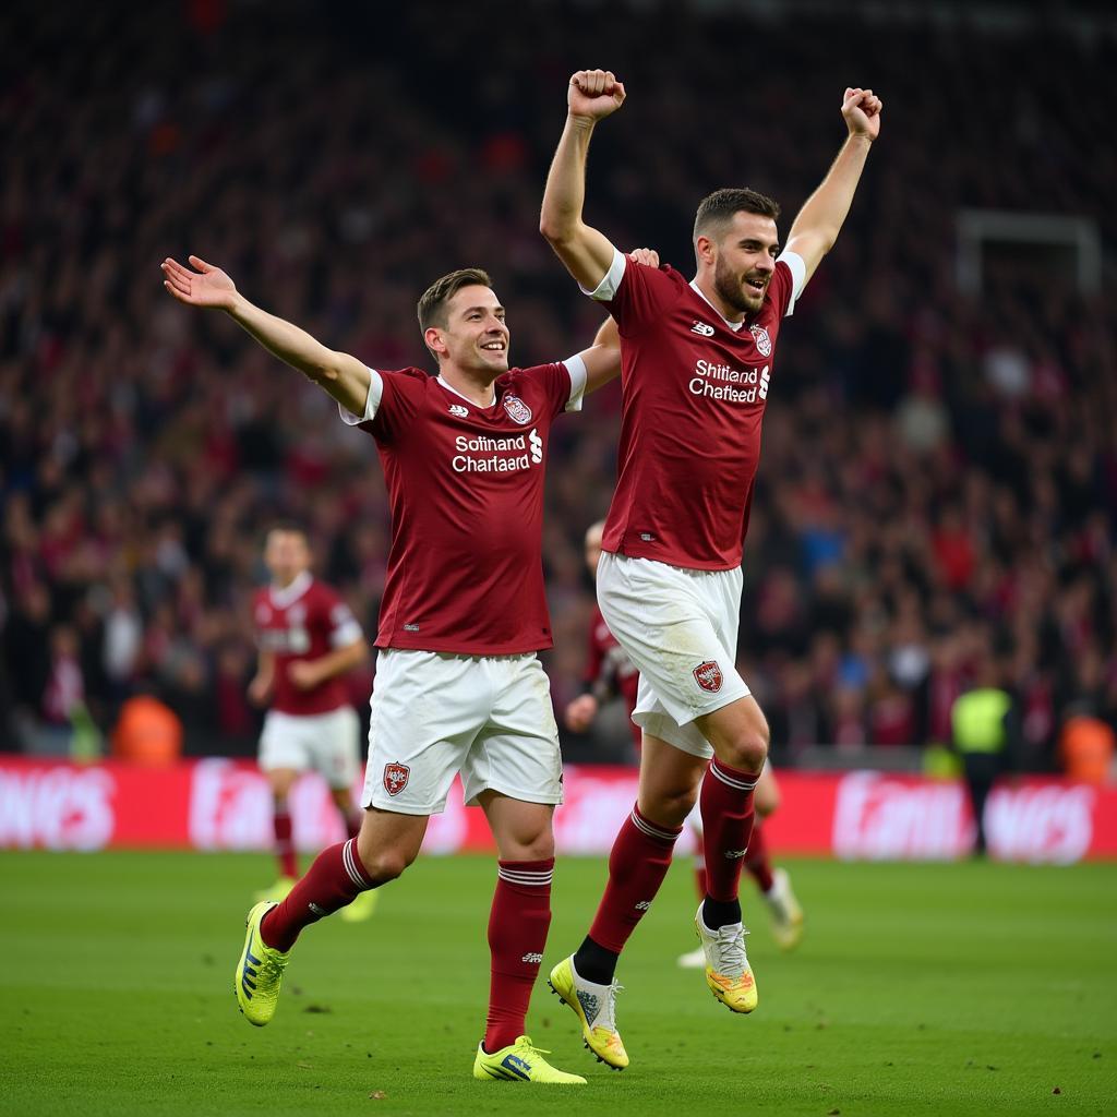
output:
<svg viewBox="0 0 1117 1117"><path fill-rule="evenodd" d="M439 814L459 772L467 806L489 790L562 802L551 684L534 655L388 648L371 708L363 806Z"/></svg>

